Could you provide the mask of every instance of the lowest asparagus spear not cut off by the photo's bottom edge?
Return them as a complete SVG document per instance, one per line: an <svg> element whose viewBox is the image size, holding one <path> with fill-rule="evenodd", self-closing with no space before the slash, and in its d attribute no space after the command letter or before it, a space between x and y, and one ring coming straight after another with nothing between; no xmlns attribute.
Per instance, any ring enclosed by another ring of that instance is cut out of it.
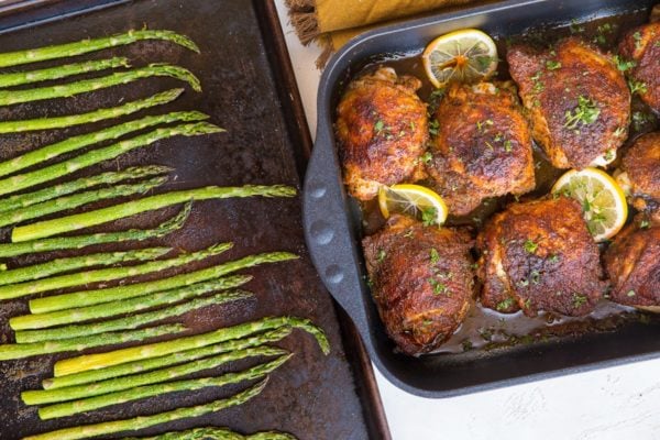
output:
<svg viewBox="0 0 660 440"><path fill-rule="evenodd" d="M279 352L279 350L277 350ZM168 393L202 389L208 387L220 387L229 384L238 384L243 381L254 381L262 378L282 366L293 356L293 353L277 358L274 361L255 365L238 373L226 373L218 377L204 377L188 381L168 382L165 384L154 384L139 386L136 388L124 389L103 396L89 397L80 400L65 402L38 409L38 417L42 420L50 420L59 417L73 416L76 414L91 411L98 408L105 408L110 405L123 404L127 402L140 400L152 396L158 396ZM167 371L165 371L167 373Z"/></svg>

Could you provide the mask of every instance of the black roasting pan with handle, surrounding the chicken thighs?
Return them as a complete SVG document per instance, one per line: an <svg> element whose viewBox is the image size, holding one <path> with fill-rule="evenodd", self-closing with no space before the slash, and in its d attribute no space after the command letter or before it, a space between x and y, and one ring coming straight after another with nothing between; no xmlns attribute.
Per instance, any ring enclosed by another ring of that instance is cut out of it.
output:
<svg viewBox="0 0 660 440"><path fill-rule="evenodd" d="M304 226L312 261L334 299L355 322L381 372L424 397L448 397L660 356L658 327L628 323L496 352L409 358L385 334L366 286L362 218L341 180L333 135L338 96L352 74L380 54L419 53L435 36L479 28L506 37L529 29L638 12L657 0L510 0L418 19L353 40L330 61L318 94L318 130L304 191Z"/></svg>

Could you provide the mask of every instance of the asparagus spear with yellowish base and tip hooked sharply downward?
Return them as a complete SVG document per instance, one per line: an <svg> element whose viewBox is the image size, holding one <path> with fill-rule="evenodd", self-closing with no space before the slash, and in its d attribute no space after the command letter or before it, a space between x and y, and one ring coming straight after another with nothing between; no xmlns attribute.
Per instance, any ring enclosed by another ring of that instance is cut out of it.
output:
<svg viewBox="0 0 660 440"><path fill-rule="evenodd" d="M116 350L108 353L86 354L78 358L65 359L55 363L55 377L79 373L88 370L106 369L108 366L133 362L138 360L164 356L185 350L198 349L230 339L240 339L265 330L279 327L295 327L314 336L324 354L330 352L330 343L323 330L309 319L297 317L268 317L258 321L244 322L233 327L222 328L209 333L174 339L147 345Z"/></svg>

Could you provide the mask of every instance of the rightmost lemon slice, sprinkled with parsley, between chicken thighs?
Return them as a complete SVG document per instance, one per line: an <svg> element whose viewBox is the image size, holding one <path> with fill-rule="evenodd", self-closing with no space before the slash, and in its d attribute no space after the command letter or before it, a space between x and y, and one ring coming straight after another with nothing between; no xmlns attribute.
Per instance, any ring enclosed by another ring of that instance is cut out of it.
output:
<svg viewBox="0 0 660 440"><path fill-rule="evenodd" d="M552 193L563 194L582 204L584 220L597 242L616 235L628 218L624 190L601 169L571 169L557 180Z"/></svg>

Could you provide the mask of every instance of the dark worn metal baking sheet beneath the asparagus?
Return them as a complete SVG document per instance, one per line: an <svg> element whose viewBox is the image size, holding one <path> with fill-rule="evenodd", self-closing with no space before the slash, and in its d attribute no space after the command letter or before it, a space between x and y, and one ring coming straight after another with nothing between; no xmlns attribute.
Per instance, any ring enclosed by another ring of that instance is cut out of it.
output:
<svg viewBox="0 0 660 440"><path fill-rule="evenodd" d="M0 47L2 52L108 35L129 29L169 29L195 40L201 54L162 42L141 42L80 58L109 55L129 56L134 65L150 62L179 64L199 76L204 92L187 89L174 103L141 112L156 114L165 111L196 109L211 116L211 121L228 133L204 138L170 139L134 151L116 161L77 173L95 174L139 164L163 164L176 169L173 179L158 191L205 185L242 185L284 183L299 187L305 131L300 120L299 99L292 84L288 59L275 9L271 1L243 0L143 0L119 1L40 1L15 14L0 14ZM94 9L85 13L86 3ZM70 8L69 8L70 7ZM102 8L97 8L102 7ZM44 9L45 8L45 9ZM31 26L22 30L23 23ZM38 24L37 26L34 26ZM275 58L277 56L278 58ZM24 66L35 68L57 65L46 62ZM61 63L61 62L59 62ZM92 108L116 106L120 101L145 97L158 90L180 87L165 78L143 80L69 99L0 109L0 119L32 118L46 114L81 112ZM283 99L287 97L287 99ZM123 120L132 119L124 118ZM98 130L117 121L107 121L75 129L3 135L0 158L16 155L67 136ZM302 156L301 156L302 155ZM100 202L98 206L109 204ZM128 227L157 224L176 212L175 208L139 216L96 230L118 230ZM8 239L9 230L2 230ZM195 267L235 258L242 255L274 250L293 251L302 257L287 264L245 271L255 279L248 288L254 300L218 306L191 312L184 320L190 333L208 331L220 326L271 315L296 315L311 318L329 334L332 353L323 356L308 336L296 331L282 342L296 353L283 369L272 374L266 389L246 405L200 418L154 427L140 435L202 426L229 426L242 432L279 429L300 439L366 439L387 438L387 428L380 406L371 365L359 348L344 350L342 332L331 298L322 288L305 249L300 224L300 201L296 199L243 199L205 201L195 205L186 227L147 245L170 245L180 250L197 250L218 241L234 241L227 255L202 262ZM132 245L110 245L86 249L97 252L127 249ZM73 252L50 253L10 261L10 265L45 261ZM168 271L167 275L177 271ZM163 275L160 275L163 276ZM143 277L151 279L154 277ZM0 332L3 341L11 340L8 318L28 311L25 300L0 306ZM354 336L353 336L354 338ZM91 350L98 352L103 350ZM70 354L69 354L70 355ZM61 420L40 421L35 407L25 407L19 398L23 389L38 388L40 382L52 374L55 360L67 354L34 358L0 363L0 439L19 439L61 427L116 420L136 415L150 415L178 406L190 406L227 396L241 386L204 389L151 398L129 405L109 407ZM234 363L228 369L244 367L250 362ZM114 436L119 438L121 436Z"/></svg>

